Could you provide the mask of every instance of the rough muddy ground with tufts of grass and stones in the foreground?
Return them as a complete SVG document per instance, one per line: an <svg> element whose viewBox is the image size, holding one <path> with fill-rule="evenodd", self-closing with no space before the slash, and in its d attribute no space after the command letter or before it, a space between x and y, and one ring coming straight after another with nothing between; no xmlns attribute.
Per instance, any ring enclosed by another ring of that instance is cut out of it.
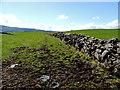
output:
<svg viewBox="0 0 120 90"><path fill-rule="evenodd" d="M17 47L3 61L5 88L120 88L108 71L91 65L80 54L62 54L42 46L39 49ZM93 63L95 64L95 63Z"/></svg>

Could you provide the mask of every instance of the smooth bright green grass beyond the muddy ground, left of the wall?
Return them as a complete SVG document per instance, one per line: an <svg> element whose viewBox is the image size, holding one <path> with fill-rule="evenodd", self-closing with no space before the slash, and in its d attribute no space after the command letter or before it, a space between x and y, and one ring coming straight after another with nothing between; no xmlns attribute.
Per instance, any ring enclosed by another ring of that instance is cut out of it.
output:
<svg viewBox="0 0 120 90"><path fill-rule="evenodd" d="M13 48L31 47L41 48L46 45L51 50L61 50L69 53L69 45L66 45L58 38L47 35L48 32L11 32L14 35L2 35L2 57L7 58L12 55ZM72 48L73 49L73 48ZM75 49L74 49L75 50ZM58 52L61 52L58 51ZM59 54L59 53L58 53Z"/></svg>

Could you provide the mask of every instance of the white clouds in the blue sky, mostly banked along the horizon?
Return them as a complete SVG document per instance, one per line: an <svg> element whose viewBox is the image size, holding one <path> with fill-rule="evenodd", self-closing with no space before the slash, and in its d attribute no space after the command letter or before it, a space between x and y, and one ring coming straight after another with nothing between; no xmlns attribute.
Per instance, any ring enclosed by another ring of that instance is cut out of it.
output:
<svg viewBox="0 0 120 90"><path fill-rule="evenodd" d="M59 15L60 19L68 19L68 16ZM98 17L97 17L98 18ZM71 26L71 24L73 24ZM46 24L46 23L34 23L30 24L25 22L13 14L0 14L0 25L12 26L12 27L24 27L24 28L35 28L42 30L53 30L53 31L69 31L69 30L81 30L81 29L113 29L118 28L118 20L113 20L104 25L88 23L85 25L75 25L75 23L70 23L69 26Z"/></svg>

